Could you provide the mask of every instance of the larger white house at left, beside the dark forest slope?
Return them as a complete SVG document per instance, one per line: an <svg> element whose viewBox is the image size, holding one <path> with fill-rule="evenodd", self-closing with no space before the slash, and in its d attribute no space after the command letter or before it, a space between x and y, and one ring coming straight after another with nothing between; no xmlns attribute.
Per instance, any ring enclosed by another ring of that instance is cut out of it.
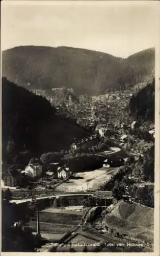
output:
<svg viewBox="0 0 160 256"><path fill-rule="evenodd" d="M40 177L42 174L42 166L39 163L29 163L28 166L25 167L25 175L35 178Z"/></svg>

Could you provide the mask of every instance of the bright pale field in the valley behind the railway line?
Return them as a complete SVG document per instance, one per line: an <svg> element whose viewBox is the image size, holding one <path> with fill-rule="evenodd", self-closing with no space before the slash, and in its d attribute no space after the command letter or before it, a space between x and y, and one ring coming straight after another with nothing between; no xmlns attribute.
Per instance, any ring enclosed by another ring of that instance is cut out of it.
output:
<svg viewBox="0 0 160 256"><path fill-rule="evenodd" d="M74 174L74 177L69 181L60 184L56 190L61 191L83 191L83 190L97 190L100 185L106 183L112 175L118 171L115 168L101 168L89 172L82 172Z"/></svg>

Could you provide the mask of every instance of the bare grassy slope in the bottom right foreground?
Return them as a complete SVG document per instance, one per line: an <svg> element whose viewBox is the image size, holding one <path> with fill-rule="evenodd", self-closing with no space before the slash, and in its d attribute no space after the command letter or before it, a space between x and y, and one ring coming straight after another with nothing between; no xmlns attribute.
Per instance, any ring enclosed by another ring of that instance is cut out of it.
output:
<svg viewBox="0 0 160 256"><path fill-rule="evenodd" d="M153 244L154 209L125 203L120 200L116 207L103 219L106 227L114 228L128 237Z"/></svg>

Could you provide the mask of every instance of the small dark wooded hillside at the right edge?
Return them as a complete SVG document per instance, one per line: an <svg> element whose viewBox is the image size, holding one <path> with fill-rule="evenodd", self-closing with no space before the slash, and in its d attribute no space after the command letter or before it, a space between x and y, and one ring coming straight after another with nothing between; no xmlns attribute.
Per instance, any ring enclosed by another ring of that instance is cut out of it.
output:
<svg viewBox="0 0 160 256"><path fill-rule="evenodd" d="M131 116L140 121L154 122L155 81L148 83L137 95L133 95L129 102Z"/></svg>

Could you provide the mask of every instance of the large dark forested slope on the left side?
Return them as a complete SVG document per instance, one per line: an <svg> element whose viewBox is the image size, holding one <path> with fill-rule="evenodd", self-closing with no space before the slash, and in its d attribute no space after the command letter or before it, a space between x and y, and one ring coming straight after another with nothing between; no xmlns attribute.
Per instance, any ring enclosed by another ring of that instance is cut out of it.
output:
<svg viewBox="0 0 160 256"><path fill-rule="evenodd" d="M2 79L3 157L30 151L32 155L67 150L73 138L88 133L75 120L61 119L42 96Z"/></svg>

